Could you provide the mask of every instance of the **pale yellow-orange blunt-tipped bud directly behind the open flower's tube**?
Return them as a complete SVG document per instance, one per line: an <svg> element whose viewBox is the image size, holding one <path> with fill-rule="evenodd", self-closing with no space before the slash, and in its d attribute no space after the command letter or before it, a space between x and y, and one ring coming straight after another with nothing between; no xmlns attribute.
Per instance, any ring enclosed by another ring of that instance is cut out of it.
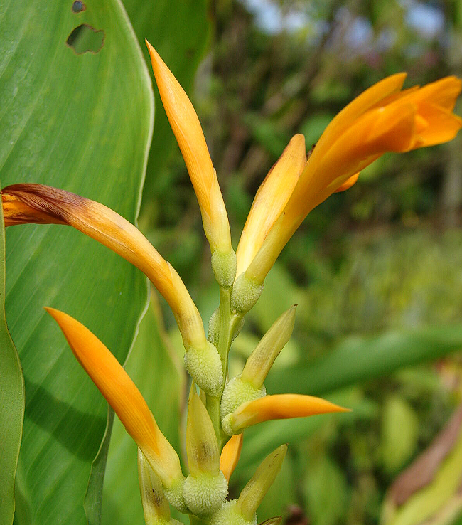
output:
<svg viewBox="0 0 462 525"><path fill-rule="evenodd" d="M237 276L245 272L281 215L305 164L305 137L296 134L269 170L255 195L236 250Z"/></svg>

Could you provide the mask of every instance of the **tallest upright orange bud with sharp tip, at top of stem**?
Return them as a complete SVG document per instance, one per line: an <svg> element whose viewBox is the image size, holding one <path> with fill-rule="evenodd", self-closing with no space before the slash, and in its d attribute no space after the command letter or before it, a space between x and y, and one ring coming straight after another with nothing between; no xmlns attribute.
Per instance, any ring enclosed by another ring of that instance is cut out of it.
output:
<svg viewBox="0 0 462 525"><path fill-rule="evenodd" d="M146 46L168 122L183 154L198 198L210 248L212 253L217 248L226 252L231 246L230 225L198 115L188 95L159 53L147 40Z"/></svg>

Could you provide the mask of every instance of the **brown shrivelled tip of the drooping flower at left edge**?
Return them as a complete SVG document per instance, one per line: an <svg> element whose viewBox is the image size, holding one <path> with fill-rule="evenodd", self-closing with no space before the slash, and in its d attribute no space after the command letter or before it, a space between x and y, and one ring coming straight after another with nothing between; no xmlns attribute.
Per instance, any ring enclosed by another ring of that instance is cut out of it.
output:
<svg viewBox="0 0 462 525"><path fill-rule="evenodd" d="M16 224L69 224L65 208L85 208L87 199L45 186L11 184L1 190L5 226Z"/></svg>

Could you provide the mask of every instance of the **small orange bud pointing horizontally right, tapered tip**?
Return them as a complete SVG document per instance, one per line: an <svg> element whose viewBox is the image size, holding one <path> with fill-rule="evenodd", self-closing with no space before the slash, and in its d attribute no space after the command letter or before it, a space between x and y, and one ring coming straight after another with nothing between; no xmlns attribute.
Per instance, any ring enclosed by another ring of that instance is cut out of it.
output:
<svg viewBox="0 0 462 525"><path fill-rule="evenodd" d="M242 403L222 420L227 435L241 433L247 427L272 419L306 418L308 415L350 412L330 401L301 394L276 394Z"/></svg>

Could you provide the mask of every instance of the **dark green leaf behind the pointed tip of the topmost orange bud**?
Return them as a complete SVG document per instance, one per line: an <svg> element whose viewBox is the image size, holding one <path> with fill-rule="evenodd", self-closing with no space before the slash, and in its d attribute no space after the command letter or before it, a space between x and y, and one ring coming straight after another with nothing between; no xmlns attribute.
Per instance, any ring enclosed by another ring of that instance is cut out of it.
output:
<svg viewBox="0 0 462 525"><path fill-rule="evenodd" d="M124 0L144 57L149 63L154 85L151 60L144 39L151 42L183 89L189 92L210 36L207 4L207 0ZM176 143L157 88L154 88L154 95L156 124L149 152L144 200L149 199L155 191L161 194L171 183L171 176L165 168Z"/></svg>

